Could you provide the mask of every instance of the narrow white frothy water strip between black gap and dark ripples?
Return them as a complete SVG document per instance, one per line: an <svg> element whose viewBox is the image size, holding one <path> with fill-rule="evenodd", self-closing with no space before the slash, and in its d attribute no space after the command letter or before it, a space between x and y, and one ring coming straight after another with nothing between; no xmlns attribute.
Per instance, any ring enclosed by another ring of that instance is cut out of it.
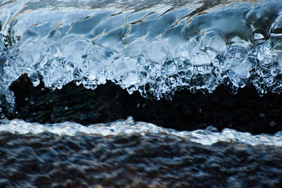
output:
<svg viewBox="0 0 282 188"><path fill-rule="evenodd" d="M6 120L0 122L0 132L12 132L16 134L39 134L42 132L51 132L59 135L77 134L96 134L104 137L109 135L118 134L158 134L158 135L174 135L187 139L188 141L197 142L203 145L212 145L217 142L240 142L252 146L256 145L269 145L269 146L282 146L282 134L277 132L274 135L258 134L252 135L248 132L238 132L236 130L224 129L218 132L216 128L210 126L205 130L177 131L159 127L152 123L135 122L133 118L128 117L126 120L117 120L113 123L94 124L85 127L78 123L55 123L42 125L39 123L27 123L23 120Z"/></svg>

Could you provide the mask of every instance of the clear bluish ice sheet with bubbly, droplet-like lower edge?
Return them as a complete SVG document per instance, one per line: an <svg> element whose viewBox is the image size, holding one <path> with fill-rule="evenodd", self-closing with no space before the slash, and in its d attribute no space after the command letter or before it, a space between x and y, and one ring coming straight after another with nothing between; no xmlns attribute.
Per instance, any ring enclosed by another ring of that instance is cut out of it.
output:
<svg viewBox="0 0 282 188"><path fill-rule="evenodd" d="M219 84L282 91L281 2L146 2L1 1L0 88L10 110L8 87L23 73L34 86L111 80L157 99Z"/></svg>

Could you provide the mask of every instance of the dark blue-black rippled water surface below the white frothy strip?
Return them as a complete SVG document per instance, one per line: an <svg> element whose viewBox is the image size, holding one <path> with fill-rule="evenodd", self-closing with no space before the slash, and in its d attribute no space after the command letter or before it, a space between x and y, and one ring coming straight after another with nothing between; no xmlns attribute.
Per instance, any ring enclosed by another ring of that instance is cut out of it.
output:
<svg viewBox="0 0 282 188"><path fill-rule="evenodd" d="M0 187L281 187L282 149L167 134L0 132Z"/></svg>

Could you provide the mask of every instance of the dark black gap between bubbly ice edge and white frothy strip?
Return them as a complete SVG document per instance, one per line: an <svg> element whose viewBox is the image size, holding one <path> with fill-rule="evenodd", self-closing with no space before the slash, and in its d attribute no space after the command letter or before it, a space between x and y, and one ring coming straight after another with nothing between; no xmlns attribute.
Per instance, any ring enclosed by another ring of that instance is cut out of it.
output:
<svg viewBox="0 0 282 188"><path fill-rule="evenodd" d="M128 94L113 83L85 89L73 83L51 92L41 83L33 87L27 76L11 85L16 96L16 113L9 118L29 122L74 121L82 125L106 123L129 115L176 130L197 130L213 125L252 134L282 130L282 95L258 96L253 87L230 94L223 86L213 94L187 90L176 92L172 101L145 99L139 92ZM6 114L7 115L7 114Z"/></svg>

